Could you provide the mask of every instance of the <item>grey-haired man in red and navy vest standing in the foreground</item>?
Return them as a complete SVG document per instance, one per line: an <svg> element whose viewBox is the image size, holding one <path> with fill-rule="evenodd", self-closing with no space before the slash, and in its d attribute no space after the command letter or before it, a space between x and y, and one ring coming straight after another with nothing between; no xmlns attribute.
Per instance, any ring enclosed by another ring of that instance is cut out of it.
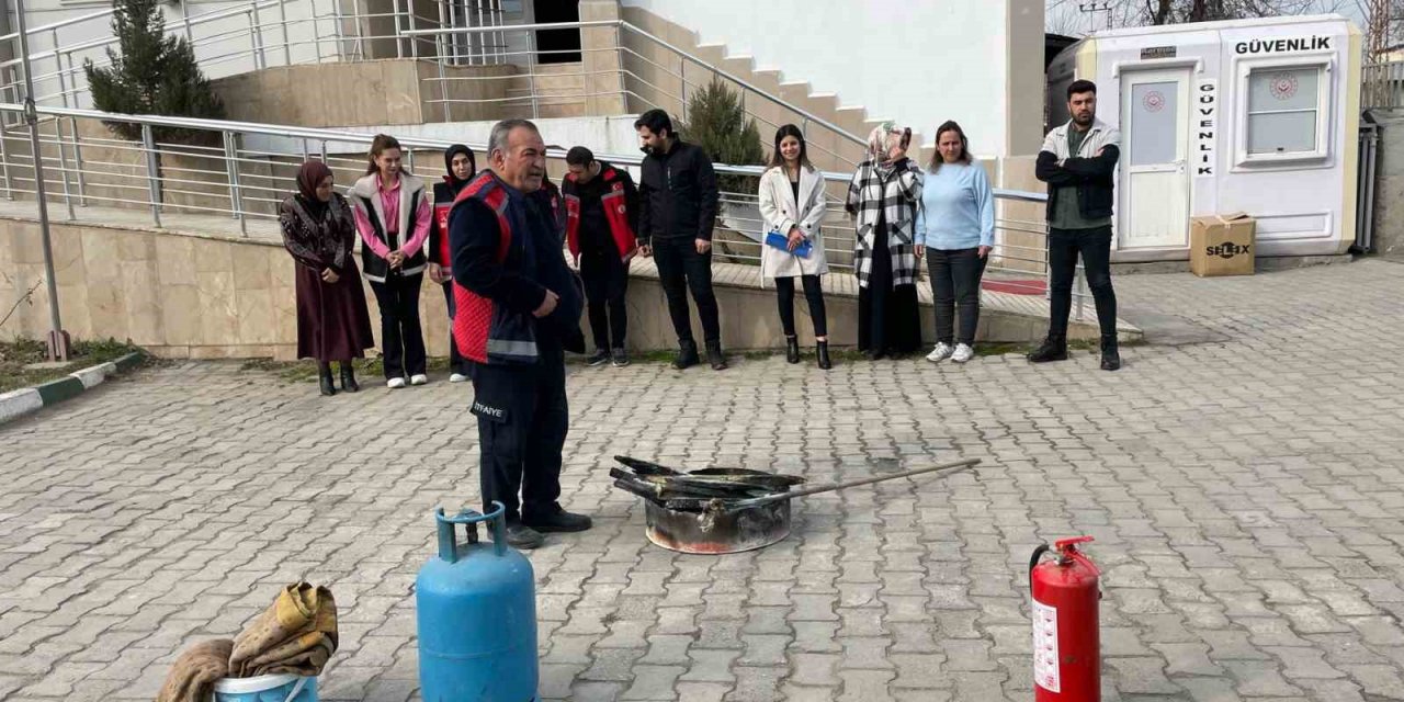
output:
<svg viewBox="0 0 1404 702"><path fill-rule="evenodd" d="M473 380L484 510L503 503L507 542L534 549L542 532L591 526L557 501L570 418L564 351L585 351L584 292L562 254L555 213L535 195L546 176L536 125L493 125L489 164L448 218L453 343Z"/></svg>

